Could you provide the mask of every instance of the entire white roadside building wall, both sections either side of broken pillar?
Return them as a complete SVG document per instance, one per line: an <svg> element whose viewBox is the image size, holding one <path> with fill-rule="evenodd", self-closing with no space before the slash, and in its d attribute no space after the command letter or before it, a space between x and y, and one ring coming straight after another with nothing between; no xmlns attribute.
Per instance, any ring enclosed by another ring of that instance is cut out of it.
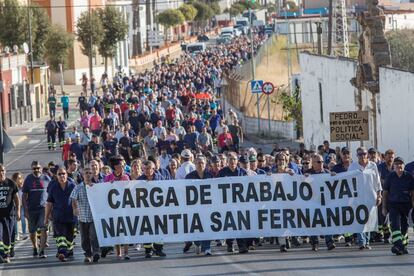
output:
<svg viewBox="0 0 414 276"><path fill-rule="evenodd" d="M358 92L350 83L357 64L351 59L301 53L300 66L304 142L307 147L316 148L324 140L330 140L330 112L357 110ZM381 152L392 148L406 161L414 159L412 87L414 73L380 68L380 93L375 96L375 114L371 93L362 91L362 110L368 110L370 114L370 140L363 141L364 146L374 146L376 137ZM359 141L351 142L351 151L355 153L360 144ZM345 143L332 143L332 146L345 146Z"/></svg>

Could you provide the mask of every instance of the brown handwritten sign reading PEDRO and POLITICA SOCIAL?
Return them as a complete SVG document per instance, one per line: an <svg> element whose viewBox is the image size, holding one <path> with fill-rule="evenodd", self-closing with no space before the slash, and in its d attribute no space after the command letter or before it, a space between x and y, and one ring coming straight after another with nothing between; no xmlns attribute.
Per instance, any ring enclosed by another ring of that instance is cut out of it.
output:
<svg viewBox="0 0 414 276"><path fill-rule="evenodd" d="M331 142L369 140L368 111L329 113Z"/></svg>

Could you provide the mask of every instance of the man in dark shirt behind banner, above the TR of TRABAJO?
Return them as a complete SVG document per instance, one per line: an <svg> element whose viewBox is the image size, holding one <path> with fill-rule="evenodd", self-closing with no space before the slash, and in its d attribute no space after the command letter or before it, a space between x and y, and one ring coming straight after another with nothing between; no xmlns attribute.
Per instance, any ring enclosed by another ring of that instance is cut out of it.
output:
<svg viewBox="0 0 414 276"><path fill-rule="evenodd" d="M246 170L237 166L237 154L235 152L230 152L228 156L228 166L220 170L218 177L246 176ZM240 254L249 252L249 249L247 248L249 239L236 239L236 241ZM233 240L227 239L226 244L227 252L234 252Z"/></svg>

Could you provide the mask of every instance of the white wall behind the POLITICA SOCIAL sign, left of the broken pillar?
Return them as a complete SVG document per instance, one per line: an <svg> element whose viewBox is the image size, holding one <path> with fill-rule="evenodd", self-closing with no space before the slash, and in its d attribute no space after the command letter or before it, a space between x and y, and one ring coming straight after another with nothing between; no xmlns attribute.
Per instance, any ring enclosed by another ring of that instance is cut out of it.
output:
<svg viewBox="0 0 414 276"><path fill-rule="evenodd" d="M308 148L316 149L324 140L330 140L330 112L357 110L356 89L350 83L355 75L356 63L349 59L301 53L300 67L304 143ZM363 110L367 110L368 102L369 94L364 93ZM345 142L332 143L332 147L345 145ZM364 145L370 147L372 142L366 141ZM349 146L355 152L360 142L352 142Z"/></svg>

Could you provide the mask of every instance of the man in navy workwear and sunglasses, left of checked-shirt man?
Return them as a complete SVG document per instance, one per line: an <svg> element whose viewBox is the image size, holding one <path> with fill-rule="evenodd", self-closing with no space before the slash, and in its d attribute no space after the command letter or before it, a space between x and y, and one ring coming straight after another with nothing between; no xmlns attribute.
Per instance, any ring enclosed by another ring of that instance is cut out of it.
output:
<svg viewBox="0 0 414 276"><path fill-rule="evenodd" d="M57 180L50 182L44 225L49 224L53 210L53 229L57 245L57 257L66 262L73 256L73 239L76 217L73 214L70 195L76 184L68 177L66 169L60 167L57 171Z"/></svg>

